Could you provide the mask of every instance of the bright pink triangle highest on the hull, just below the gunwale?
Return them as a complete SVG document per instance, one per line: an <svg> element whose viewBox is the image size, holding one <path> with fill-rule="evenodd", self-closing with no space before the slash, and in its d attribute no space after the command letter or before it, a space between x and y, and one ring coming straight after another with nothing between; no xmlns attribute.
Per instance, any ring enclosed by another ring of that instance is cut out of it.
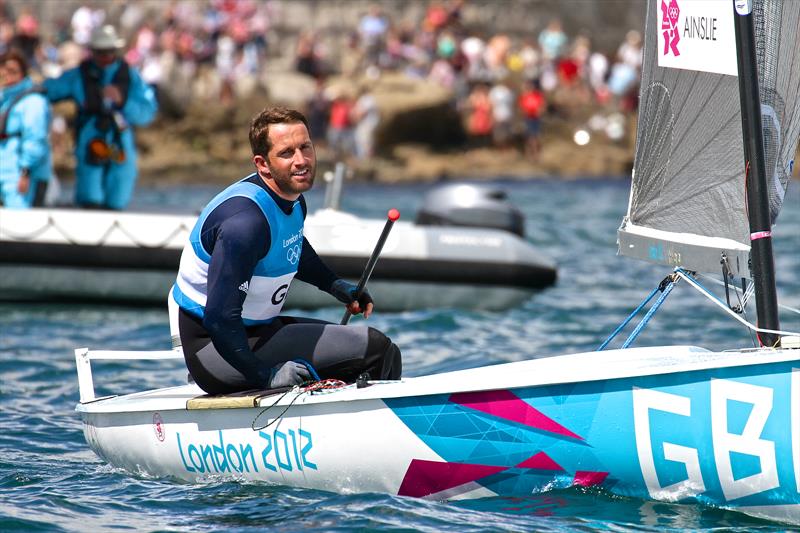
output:
<svg viewBox="0 0 800 533"><path fill-rule="evenodd" d="M552 418L520 400L507 390L485 392L460 392L450 395L451 402L481 411L492 416L519 422L536 429L556 433L565 437L583 440Z"/></svg>

